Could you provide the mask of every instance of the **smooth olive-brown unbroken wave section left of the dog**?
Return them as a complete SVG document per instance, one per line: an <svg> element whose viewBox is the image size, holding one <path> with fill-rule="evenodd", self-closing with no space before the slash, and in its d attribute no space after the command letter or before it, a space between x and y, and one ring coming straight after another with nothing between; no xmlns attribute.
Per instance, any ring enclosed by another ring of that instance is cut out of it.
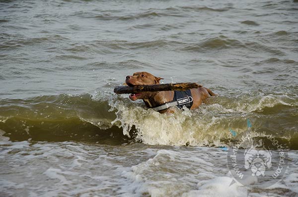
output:
<svg viewBox="0 0 298 197"><path fill-rule="evenodd" d="M0 128L11 140L126 141L122 131L110 122L106 102L91 95L40 96L26 100L3 99ZM114 143L114 142L113 142Z"/></svg>

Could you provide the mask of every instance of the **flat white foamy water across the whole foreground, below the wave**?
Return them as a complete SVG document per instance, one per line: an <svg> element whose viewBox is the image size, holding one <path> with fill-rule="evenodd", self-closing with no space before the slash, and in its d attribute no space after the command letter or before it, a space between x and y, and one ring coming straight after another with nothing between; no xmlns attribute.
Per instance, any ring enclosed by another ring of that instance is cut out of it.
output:
<svg viewBox="0 0 298 197"><path fill-rule="evenodd" d="M219 148L92 145L74 142L1 142L2 193L31 197L119 196L194 197L295 196L298 153L290 152L292 164L284 181L269 189L250 190L226 167L227 152ZM11 154L14 152L13 154ZM28 156L31 155L31 156ZM28 157L27 157L28 156ZM12 166L9 166L13 163ZM9 166L9 171L7 171ZM283 195L284 194L284 195Z"/></svg>

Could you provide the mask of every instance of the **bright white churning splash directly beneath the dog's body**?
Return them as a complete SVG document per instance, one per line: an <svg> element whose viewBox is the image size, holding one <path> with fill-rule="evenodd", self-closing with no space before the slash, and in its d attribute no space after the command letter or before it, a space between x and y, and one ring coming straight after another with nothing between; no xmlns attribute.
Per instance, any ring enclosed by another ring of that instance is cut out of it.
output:
<svg viewBox="0 0 298 197"><path fill-rule="evenodd" d="M160 114L145 109L141 104L126 105L123 102L117 103L117 110L117 118L112 124L122 127L126 135L135 126L137 139L151 145L203 145L214 134L208 133L208 129L220 119L213 117L211 122L206 123L203 117L196 116L198 114L188 109L177 110L174 114Z"/></svg>

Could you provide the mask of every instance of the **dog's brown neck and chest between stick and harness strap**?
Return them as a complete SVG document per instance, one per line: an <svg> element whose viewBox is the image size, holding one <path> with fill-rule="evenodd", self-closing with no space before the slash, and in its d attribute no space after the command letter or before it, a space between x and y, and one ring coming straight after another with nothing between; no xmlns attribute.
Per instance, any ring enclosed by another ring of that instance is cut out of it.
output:
<svg viewBox="0 0 298 197"><path fill-rule="evenodd" d="M172 101L173 97L174 91L161 91L150 93L143 101L147 107L152 108Z"/></svg>

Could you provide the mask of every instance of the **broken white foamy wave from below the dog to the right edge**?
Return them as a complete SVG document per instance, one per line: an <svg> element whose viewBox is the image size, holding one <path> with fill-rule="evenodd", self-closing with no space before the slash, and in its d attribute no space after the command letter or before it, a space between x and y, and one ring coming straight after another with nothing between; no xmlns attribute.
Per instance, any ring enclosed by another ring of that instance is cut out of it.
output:
<svg viewBox="0 0 298 197"><path fill-rule="evenodd" d="M256 127L263 127L268 122L266 117L260 118L254 112L277 105L298 105L287 95L242 95L236 102L226 97L215 99L214 103L203 104L195 110L185 108L176 110L174 114L159 114L146 109L142 101L131 102L125 97L114 97L109 104L112 110L116 109L117 118L111 124L122 127L123 134L128 136L135 126L137 139L151 145L225 146L224 141L233 137L230 128L237 128L239 135L247 131L246 121L249 118L258 120Z"/></svg>

